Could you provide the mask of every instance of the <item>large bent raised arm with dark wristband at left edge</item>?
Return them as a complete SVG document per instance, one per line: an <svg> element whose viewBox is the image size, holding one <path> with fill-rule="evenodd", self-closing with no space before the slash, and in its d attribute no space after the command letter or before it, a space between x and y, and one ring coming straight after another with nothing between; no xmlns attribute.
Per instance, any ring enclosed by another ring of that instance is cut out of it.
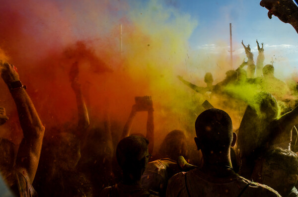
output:
<svg viewBox="0 0 298 197"><path fill-rule="evenodd" d="M19 80L16 68L0 63L1 77L6 83L15 102L23 139L16 157L16 168L27 171L32 184L37 170L45 128L42 125L25 86Z"/></svg>

